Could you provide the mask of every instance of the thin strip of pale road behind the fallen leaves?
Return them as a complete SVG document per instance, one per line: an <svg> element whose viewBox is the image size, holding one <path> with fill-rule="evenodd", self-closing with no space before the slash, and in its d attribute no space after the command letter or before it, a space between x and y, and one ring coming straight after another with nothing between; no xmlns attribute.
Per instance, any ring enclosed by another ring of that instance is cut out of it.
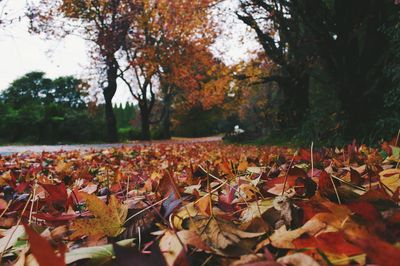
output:
<svg viewBox="0 0 400 266"><path fill-rule="evenodd" d="M221 136L213 136L206 138L173 138L171 140L159 141L132 141L129 143L113 143L113 144L74 144L74 145L29 145L29 146L0 146L0 155L10 155L13 153L34 152L40 153L43 151L72 151L72 150L100 150L112 147L129 147L137 145L151 145L156 143L173 144L173 143L195 143L206 141L221 141Z"/></svg>

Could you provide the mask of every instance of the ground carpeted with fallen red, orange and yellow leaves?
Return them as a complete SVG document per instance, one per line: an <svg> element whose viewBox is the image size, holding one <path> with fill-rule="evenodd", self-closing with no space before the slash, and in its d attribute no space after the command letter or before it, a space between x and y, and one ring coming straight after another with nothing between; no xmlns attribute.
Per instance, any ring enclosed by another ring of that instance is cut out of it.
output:
<svg viewBox="0 0 400 266"><path fill-rule="evenodd" d="M393 143L43 147L0 156L0 265L400 261Z"/></svg>

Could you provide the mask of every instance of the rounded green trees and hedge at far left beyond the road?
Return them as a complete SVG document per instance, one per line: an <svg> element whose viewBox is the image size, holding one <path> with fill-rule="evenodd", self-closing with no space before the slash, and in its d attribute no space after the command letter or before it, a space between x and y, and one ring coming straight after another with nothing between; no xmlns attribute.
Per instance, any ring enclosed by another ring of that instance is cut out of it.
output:
<svg viewBox="0 0 400 266"><path fill-rule="evenodd" d="M90 113L73 77L47 79L31 72L1 93L2 142L57 143L103 139L102 109Z"/></svg>

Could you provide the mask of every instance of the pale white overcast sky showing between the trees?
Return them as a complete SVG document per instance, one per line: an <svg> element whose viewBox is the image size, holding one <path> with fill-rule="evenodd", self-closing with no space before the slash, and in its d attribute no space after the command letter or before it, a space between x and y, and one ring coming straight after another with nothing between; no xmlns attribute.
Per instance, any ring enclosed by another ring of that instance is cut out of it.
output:
<svg viewBox="0 0 400 266"><path fill-rule="evenodd" d="M223 8L231 11L235 1L228 0ZM0 27L0 90L30 71L43 71L49 78L73 75L85 79L90 61L86 41L72 35L62 40L45 40L30 34L28 20L23 16L26 3L27 0L0 0L0 19L15 19L11 25ZM216 54L227 64L234 64L248 59L248 52L257 49L258 45L249 29L232 12L229 13L222 26L223 34L213 50L218 51ZM243 36L248 40L246 43L241 41ZM118 104L133 101L122 83L119 83L113 101Z"/></svg>

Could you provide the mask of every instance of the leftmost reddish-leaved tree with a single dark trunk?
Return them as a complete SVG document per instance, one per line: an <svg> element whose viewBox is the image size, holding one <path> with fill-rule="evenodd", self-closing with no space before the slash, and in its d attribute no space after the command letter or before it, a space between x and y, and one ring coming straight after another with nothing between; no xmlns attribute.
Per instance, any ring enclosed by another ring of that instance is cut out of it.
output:
<svg viewBox="0 0 400 266"><path fill-rule="evenodd" d="M117 52L125 43L125 37L134 19L136 1L128 0L41 0L30 8L31 29L35 32L65 36L80 32L95 44L92 56L105 66L106 80L102 83L105 100L105 119L108 141L118 140L112 98L117 90L119 63ZM57 18L61 18L57 21ZM68 22L72 21L72 25ZM60 32L62 31L62 32Z"/></svg>

